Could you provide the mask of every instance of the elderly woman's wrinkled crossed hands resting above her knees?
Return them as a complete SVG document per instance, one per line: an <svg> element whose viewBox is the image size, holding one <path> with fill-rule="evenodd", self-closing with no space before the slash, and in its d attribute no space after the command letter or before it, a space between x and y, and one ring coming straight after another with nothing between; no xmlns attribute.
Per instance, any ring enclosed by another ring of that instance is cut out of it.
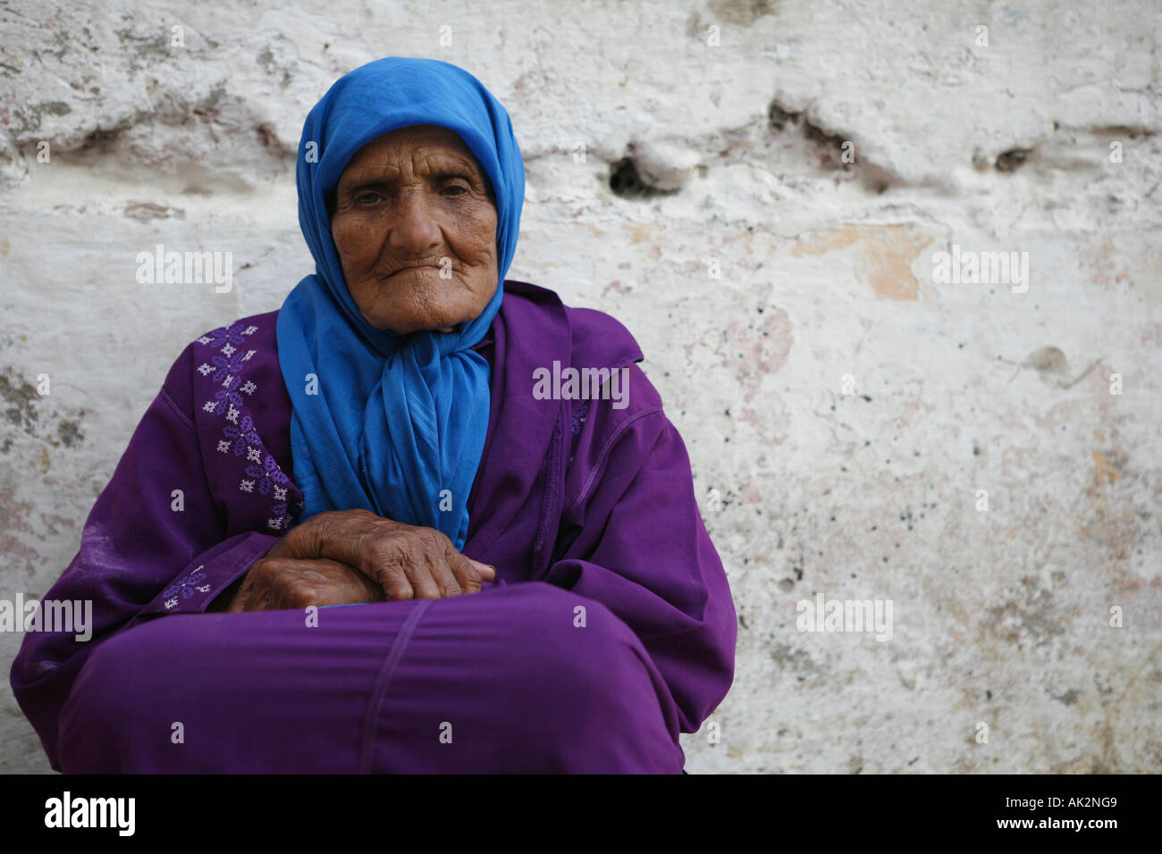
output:
<svg viewBox="0 0 1162 854"><path fill-rule="evenodd" d="M227 610L443 598L479 593L495 577L436 529L336 510L290 529L250 568Z"/></svg>

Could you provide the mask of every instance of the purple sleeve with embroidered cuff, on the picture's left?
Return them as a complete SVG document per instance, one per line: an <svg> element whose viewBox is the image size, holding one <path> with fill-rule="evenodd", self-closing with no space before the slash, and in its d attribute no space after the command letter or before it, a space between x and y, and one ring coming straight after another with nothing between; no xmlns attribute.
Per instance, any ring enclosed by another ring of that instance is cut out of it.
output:
<svg viewBox="0 0 1162 854"><path fill-rule="evenodd" d="M88 639L77 640L76 631L29 631L13 661L16 702L53 769L57 718L98 644L163 613L203 611L278 539L248 532L223 541L191 417L192 372L187 349L96 500L80 551L44 595L92 602Z"/></svg>

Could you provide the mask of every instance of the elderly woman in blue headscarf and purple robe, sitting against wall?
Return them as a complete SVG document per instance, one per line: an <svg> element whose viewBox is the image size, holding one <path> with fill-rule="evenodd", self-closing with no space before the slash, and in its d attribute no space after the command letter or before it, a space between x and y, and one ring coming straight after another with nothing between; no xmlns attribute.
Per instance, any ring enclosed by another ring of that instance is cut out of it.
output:
<svg viewBox="0 0 1162 854"><path fill-rule="evenodd" d="M52 767L680 772L730 589L633 338L504 279L504 108L390 57L299 155L315 275L185 349L13 665Z"/></svg>

